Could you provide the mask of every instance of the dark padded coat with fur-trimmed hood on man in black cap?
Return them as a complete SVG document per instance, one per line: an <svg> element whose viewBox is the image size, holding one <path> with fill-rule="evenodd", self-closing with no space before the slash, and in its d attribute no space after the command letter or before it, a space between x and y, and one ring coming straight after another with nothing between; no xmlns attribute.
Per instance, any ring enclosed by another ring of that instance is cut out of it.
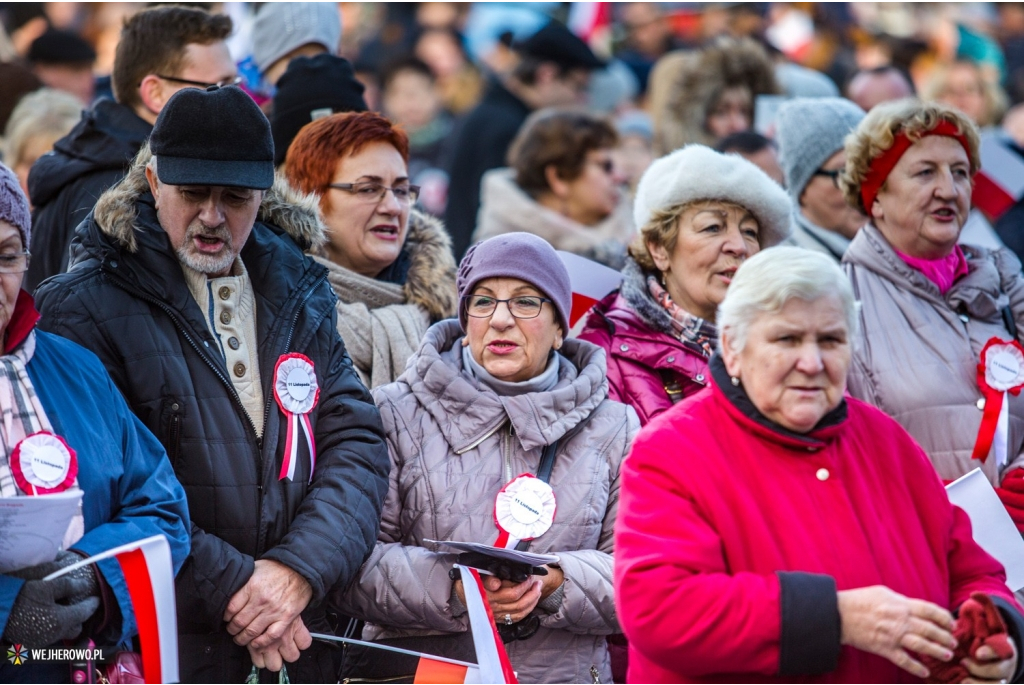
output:
<svg viewBox="0 0 1024 685"><path fill-rule="evenodd" d="M241 256L256 299L262 438L157 221L140 166L79 227L69 272L37 294L41 328L99 355L184 486L193 547L176 583L182 682L242 682L247 675L248 652L230 642L222 615L254 559L301 574L312 588L306 626L327 629L319 604L332 586L355 576L373 549L387 493L380 415L338 336L327 270L302 254L322 238L315 205L282 202L271 189L260 219ZM272 385L286 352L309 357L321 387L310 414L317 452L311 483L301 439L295 480L279 480L287 420ZM316 643L303 658L317 660L323 650ZM293 678L334 675L323 661L302 667L290 669Z"/></svg>

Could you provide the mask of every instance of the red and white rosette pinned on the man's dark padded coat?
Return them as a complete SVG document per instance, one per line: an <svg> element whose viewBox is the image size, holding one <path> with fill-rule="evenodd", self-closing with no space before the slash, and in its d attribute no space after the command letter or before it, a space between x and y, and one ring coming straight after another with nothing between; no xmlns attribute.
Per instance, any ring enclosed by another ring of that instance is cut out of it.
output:
<svg viewBox="0 0 1024 685"><path fill-rule="evenodd" d="M279 480L295 479L295 464L299 459L299 426L306 436L309 446L309 480L313 479L316 467L316 442L313 439L309 413L319 399L319 385L313 362L305 354L291 352L282 354L273 368L273 398L288 418L288 434L285 438L285 459L281 463Z"/></svg>

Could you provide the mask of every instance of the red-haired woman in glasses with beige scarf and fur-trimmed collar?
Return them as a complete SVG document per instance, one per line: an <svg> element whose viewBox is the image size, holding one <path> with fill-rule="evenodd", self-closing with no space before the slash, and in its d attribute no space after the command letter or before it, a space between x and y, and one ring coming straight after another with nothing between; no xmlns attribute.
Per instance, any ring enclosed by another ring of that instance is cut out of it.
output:
<svg viewBox="0 0 1024 685"><path fill-rule="evenodd" d="M338 295L338 333L362 381L390 383L427 328L455 315L455 257L437 219L413 209L409 137L373 112L306 125L285 160L289 182L319 196L328 242L311 256Z"/></svg>

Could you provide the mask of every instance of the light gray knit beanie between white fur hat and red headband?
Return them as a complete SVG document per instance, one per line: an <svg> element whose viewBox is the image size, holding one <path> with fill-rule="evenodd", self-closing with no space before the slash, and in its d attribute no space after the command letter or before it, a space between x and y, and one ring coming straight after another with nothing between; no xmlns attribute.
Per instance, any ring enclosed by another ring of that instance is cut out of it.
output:
<svg viewBox="0 0 1024 685"><path fill-rule="evenodd" d="M843 139L864 118L864 111L842 97L798 97L784 102L775 118L775 140L793 206L814 172L843 149Z"/></svg>

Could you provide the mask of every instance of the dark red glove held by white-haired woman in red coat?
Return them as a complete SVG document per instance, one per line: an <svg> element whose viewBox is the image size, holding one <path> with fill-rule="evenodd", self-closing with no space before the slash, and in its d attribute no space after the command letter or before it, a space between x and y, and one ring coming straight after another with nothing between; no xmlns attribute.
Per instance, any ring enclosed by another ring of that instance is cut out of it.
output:
<svg viewBox="0 0 1024 685"><path fill-rule="evenodd" d="M971 593L971 598L961 604L956 628L953 630L956 638L956 649L953 657L946 662L932 656L922 655L921 660L931 675L931 683L962 683L971 674L961 663L962 659L974 657L981 647L988 645L1000 659L1013 656L1014 649L1007 635L1007 625L1002 623L999 610L992 599L981 592Z"/></svg>

